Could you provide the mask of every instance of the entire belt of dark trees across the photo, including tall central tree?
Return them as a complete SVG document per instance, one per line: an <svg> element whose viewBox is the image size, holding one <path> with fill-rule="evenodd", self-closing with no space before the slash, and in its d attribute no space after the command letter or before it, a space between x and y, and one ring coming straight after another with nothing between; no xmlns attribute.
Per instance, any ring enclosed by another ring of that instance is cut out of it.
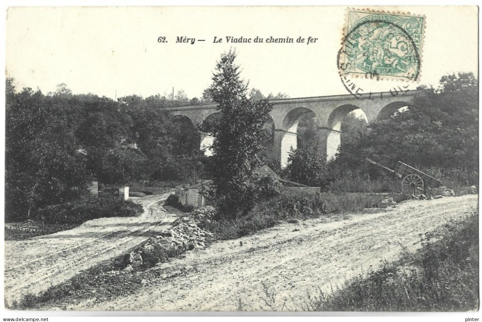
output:
<svg viewBox="0 0 482 322"><path fill-rule="evenodd" d="M262 146L272 141L272 128L265 123L268 99L287 96L267 98L256 89L248 93L234 57L231 53L218 62L213 85L201 99L189 100L180 91L170 99L130 95L114 101L94 94L74 95L65 84L45 95L29 88L18 90L13 79L7 79L6 215L25 218L30 210L77 198L94 178L104 184L124 184L201 177L215 179L217 197L227 201L226 212L235 214L253 204L259 187L247 178L263 162L311 186L326 186L340 176L385 174L364 162L365 157L389 167L403 161L432 174L440 170L477 181L478 81L473 74L444 76L437 88L420 87L408 109L368 128L348 115L334 162L325 161L313 120L301 120L298 149L282 170ZM211 124L214 128L203 129L218 136L214 157L207 160L199 150L200 130L163 108L211 103L227 116ZM213 175L207 173L210 170Z"/></svg>

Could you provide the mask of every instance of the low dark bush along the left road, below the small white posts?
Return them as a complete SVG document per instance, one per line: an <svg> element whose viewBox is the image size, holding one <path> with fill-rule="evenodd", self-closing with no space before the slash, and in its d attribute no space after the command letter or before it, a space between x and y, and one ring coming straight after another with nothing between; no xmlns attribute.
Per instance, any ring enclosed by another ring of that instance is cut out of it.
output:
<svg viewBox="0 0 482 322"><path fill-rule="evenodd" d="M130 217L141 214L143 208L119 197L85 197L76 201L48 206L37 211L36 217L47 223L76 223L102 217Z"/></svg>

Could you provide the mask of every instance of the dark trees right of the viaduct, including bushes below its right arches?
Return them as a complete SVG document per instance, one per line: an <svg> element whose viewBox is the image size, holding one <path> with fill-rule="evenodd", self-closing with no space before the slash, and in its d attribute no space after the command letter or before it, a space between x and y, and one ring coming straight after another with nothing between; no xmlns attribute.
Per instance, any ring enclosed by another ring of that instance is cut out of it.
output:
<svg viewBox="0 0 482 322"><path fill-rule="evenodd" d="M471 73L443 76L438 87L421 86L409 106L387 120L365 121L347 115L333 162L324 161L313 123L298 131L286 175L307 185L325 187L337 177L376 178L388 173L364 161L370 158L394 169L398 161L442 179L478 182L478 80ZM301 124L301 122L300 122Z"/></svg>

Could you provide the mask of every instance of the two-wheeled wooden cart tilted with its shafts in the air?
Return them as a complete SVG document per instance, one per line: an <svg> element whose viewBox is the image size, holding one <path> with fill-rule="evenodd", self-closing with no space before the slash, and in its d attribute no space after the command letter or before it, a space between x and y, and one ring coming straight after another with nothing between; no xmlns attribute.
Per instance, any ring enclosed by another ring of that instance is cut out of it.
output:
<svg viewBox="0 0 482 322"><path fill-rule="evenodd" d="M418 191L425 191L428 187L438 188L443 185L442 180L436 179L428 174L421 172L408 164L398 161L395 170L392 170L378 162L365 158L366 161L379 166L402 179L402 189L405 192L415 194Z"/></svg>

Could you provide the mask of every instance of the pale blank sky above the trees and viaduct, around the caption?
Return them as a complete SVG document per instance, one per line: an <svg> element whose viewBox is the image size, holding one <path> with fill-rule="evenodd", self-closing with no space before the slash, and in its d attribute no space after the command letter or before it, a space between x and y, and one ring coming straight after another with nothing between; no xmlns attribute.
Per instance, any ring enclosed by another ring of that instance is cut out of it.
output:
<svg viewBox="0 0 482 322"><path fill-rule="evenodd" d="M236 48L241 76L263 94L348 94L336 68L343 7L22 7L7 13L6 74L46 94L66 83L74 94L144 97L184 90L201 97L220 54ZM376 9L376 8L375 8ZM477 7L385 7L426 16L418 84L437 84L478 63ZM159 43L160 36L167 43ZM204 42L176 43L177 37ZM226 36L315 43L226 43ZM213 43L214 37L222 43ZM361 80L371 91L400 81Z"/></svg>

